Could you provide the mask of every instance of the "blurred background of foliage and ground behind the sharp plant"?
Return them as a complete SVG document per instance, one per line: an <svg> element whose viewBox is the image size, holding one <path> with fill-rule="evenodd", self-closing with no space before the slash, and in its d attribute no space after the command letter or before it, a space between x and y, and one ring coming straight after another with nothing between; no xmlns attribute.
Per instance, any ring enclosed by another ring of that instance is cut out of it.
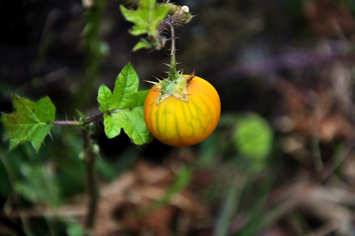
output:
<svg viewBox="0 0 355 236"><path fill-rule="evenodd" d="M58 111L79 108L88 117L96 101L71 102L96 97L83 99L84 86L113 87L128 61L142 80L166 70L164 53L131 52L137 38L119 9L134 12L137 1L100 1L87 10L71 1L10 3L3 4L14 18L0 16L12 27L4 27L0 44L5 113L13 112L15 91L49 96ZM137 148L125 134L107 139L105 127L94 125L101 199L93 234L353 235L353 1L177 3L196 15L177 30L178 61L215 85L219 125L204 142L180 149L156 140ZM91 79L81 80L83 71ZM53 127L38 153L29 143L12 152L1 143L0 235L85 234L78 133ZM135 219L142 209L149 211Z"/></svg>

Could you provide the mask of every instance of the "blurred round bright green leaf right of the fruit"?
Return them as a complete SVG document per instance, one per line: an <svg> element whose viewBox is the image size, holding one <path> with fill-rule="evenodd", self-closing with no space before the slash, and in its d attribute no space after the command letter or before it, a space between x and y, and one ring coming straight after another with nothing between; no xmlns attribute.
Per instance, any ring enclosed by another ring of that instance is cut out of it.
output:
<svg viewBox="0 0 355 236"><path fill-rule="evenodd" d="M249 114L237 121L234 143L241 154L262 160L270 154L272 142L273 132L264 118Z"/></svg>

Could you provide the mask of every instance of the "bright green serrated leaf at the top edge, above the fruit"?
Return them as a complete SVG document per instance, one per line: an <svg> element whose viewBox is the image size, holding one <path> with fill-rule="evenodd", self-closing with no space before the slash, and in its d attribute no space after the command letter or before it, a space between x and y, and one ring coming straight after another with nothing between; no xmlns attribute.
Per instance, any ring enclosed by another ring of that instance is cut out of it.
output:
<svg viewBox="0 0 355 236"><path fill-rule="evenodd" d="M165 19L170 6L168 4L157 5L155 0L141 0L137 10L127 9L123 5L120 9L125 19L135 24L130 34L134 36L157 35L158 25Z"/></svg>

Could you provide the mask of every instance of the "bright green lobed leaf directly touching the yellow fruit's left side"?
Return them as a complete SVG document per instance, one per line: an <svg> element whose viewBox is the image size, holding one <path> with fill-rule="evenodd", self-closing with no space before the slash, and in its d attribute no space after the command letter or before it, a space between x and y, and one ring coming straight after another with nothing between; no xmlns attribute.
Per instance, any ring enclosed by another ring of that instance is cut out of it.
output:
<svg viewBox="0 0 355 236"><path fill-rule="evenodd" d="M143 105L149 90L137 91L139 79L129 63L118 75L113 93L102 84L98 102L105 113L104 126L108 138L120 134L121 128L137 145L149 143L152 136L145 126Z"/></svg>

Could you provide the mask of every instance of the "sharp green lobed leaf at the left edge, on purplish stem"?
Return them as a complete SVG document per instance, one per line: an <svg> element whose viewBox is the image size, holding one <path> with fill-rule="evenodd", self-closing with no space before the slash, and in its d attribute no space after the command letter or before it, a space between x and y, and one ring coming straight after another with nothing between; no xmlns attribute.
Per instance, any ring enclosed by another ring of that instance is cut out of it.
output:
<svg viewBox="0 0 355 236"><path fill-rule="evenodd" d="M4 138L10 140L9 150L29 141L38 151L53 125L54 105L48 97L32 102L16 95L13 95L12 103L15 112L2 114L1 117L5 128Z"/></svg>

